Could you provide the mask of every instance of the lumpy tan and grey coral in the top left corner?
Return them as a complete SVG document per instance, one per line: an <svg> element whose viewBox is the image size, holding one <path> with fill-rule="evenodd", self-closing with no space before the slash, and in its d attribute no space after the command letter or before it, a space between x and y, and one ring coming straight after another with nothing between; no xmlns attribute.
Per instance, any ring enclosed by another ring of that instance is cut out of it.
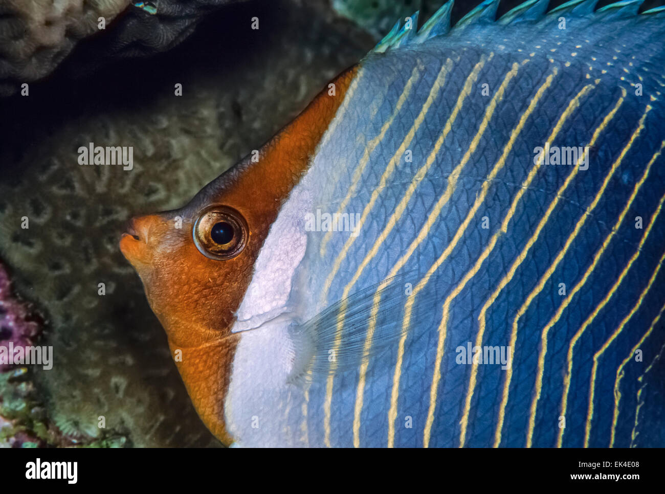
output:
<svg viewBox="0 0 665 494"><path fill-rule="evenodd" d="M0 0L0 96L43 78L94 34L86 66L76 72L171 49L205 14L233 1ZM100 17L105 19L103 30Z"/></svg>

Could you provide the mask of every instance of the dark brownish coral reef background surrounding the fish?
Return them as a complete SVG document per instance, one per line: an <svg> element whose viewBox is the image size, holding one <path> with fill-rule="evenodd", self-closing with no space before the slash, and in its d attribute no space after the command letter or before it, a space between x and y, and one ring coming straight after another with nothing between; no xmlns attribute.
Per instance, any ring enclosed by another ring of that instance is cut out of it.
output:
<svg viewBox="0 0 665 494"><path fill-rule="evenodd" d="M0 372L0 445L219 445L120 254L125 222L186 203L396 19L420 9L422 25L444 2L170 0L156 2L152 17L128 3L104 4L112 10L104 31L79 26L30 51L32 31L7 14L19 4L0 0L0 92L13 93L0 98L0 343L54 346L52 370ZM477 3L458 1L453 21ZM498 15L519 3L502 2ZM27 97L16 92L24 79ZM76 150L89 142L134 146L134 170L79 166Z"/></svg>

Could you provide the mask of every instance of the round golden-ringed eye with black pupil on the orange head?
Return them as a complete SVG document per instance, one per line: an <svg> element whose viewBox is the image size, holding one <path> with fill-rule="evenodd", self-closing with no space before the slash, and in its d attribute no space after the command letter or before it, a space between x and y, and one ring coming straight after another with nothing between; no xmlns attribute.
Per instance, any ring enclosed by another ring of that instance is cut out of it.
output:
<svg viewBox="0 0 665 494"><path fill-rule="evenodd" d="M245 248L247 222L235 209L215 205L204 209L192 236L199 252L209 259L232 259Z"/></svg>

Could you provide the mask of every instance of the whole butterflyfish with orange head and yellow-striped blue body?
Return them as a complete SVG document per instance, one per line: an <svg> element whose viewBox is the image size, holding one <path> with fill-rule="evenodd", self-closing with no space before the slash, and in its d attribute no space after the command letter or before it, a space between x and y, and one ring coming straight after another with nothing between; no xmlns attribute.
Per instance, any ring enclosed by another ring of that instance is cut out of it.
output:
<svg viewBox="0 0 665 494"><path fill-rule="evenodd" d="M665 8L595 4L416 13L130 221L222 443L665 445Z"/></svg>

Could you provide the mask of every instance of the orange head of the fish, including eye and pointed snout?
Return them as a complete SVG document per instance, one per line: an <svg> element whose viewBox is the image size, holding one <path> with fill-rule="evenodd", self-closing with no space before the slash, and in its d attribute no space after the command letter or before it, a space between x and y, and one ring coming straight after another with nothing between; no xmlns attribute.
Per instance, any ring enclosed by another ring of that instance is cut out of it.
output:
<svg viewBox="0 0 665 494"><path fill-rule="evenodd" d="M344 98L355 68L338 76L259 151L206 185L182 209L134 218L120 250L140 276L176 365L206 426L229 443L223 399L237 334L235 312L283 201ZM179 351L178 351L179 350Z"/></svg>

